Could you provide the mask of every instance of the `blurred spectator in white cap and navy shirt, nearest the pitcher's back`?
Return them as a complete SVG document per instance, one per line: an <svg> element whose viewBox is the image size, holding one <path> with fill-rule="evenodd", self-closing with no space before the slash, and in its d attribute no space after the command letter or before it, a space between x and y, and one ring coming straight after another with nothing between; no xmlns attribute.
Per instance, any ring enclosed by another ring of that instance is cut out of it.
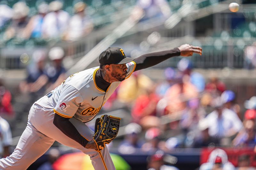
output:
<svg viewBox="0 0 256 170"><path fill-rule="evenodd" d="M67 77L66 69L62 66L62 60L65 56L64 50L61 47L53 47L49 51L49 58L52 64L47 67L47 75L49 78L50 87L47 92L58 87Z"/></svg>

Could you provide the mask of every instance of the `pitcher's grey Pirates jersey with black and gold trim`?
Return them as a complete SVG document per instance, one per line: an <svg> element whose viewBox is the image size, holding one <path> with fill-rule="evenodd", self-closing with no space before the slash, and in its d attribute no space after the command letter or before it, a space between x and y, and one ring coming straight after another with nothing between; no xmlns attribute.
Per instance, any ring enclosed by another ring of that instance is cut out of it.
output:
<svg viewBox="0 0 256 170"><path fill-rule="evenodd" d="M135 70L136 63L126 63L126 66L128 68L126 78L129 78ZM62 117L74 117L82 122L92 120L121 83L113 82L106 92L103 91L95 83L97 70L99 67L69 76L64 83L52 91L49 103L42 103L40 100L36 103L54 109L54 113Z"/></svg>

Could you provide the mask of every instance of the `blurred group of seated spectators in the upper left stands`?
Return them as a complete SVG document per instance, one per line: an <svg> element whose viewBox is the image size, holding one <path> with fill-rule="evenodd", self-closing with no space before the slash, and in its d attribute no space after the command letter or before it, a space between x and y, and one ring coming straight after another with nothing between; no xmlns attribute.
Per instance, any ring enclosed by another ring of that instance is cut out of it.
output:
<svg viewBox="0 0 256 170"><path fill-rule="evenodd" d="M38 1L39 2L39 1ZM77 2L73 6L74 15L63 10L59 0L47 4L36 4L36 12L31 12L28 5L19 1L12 8L0 4L0 30L4 30L2 40L12 39L62 39L74 41L93 30L92 19L86 15L86 4Z"/></svg>

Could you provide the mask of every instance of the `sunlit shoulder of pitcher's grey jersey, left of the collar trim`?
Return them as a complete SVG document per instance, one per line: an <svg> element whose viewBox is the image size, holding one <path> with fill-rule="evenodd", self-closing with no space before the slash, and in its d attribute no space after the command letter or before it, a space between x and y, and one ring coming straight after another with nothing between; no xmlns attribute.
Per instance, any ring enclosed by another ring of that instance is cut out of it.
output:
<svg viewBox="0 0 256 170"><path fill-rule="evenodd" d="M65 84L72 85L77 90L81 90L84 88L88 83L93 81L93 75L94 72L99 67L93 67L91 69L83 70L80 72L77 72L73 75L70 75L67 80L65 81Z"/></svg>

